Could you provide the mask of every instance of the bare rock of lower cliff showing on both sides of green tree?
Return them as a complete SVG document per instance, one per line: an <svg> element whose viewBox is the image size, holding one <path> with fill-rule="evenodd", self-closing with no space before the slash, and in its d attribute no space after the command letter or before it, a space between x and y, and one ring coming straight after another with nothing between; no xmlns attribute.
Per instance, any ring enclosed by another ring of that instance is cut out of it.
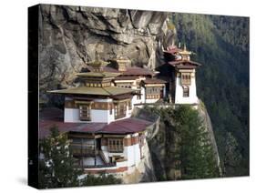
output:
<svg viewBox="0 0 256 193"><path fill-rule="evenodd" d="M203 103L199 105L199 115L206 128L210 144L213 147L214 157L220 169L220 157L216 145L214 133L211 127L210 117ZM178 137L174 126L166 126L159 122L159 129L156 135L148 140L149 152L157 181L176 180L180 178L180 171L175 167L175 152L177 150Z"/></svg>

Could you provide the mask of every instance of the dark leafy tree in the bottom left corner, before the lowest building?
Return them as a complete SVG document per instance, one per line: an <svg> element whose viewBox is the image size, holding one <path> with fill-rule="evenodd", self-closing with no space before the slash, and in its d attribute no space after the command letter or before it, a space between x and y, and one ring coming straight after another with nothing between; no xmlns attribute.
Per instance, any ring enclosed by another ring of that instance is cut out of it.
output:
<svg viewBox="0 0 256 193"><path fill-rule="evenodd" d="M74 167L75 159L69 150L67 135L51 128L50 137L39 143L39 188L64 188L80 185L82 170Z"/></svg>

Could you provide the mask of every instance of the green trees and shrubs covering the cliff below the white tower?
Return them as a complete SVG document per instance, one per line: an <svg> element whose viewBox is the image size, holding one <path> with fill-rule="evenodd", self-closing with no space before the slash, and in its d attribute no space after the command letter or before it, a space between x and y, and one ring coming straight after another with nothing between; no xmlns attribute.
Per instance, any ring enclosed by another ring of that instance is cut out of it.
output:
<svg viewBox="0 0 256 193"><path fill-rule="evenodd" d="M210 142L210 134L199 115L199 111L189 106L177 109L144 107L140 113L159 115L161 128L156 137L158 146L164 144L164 155L150 146L154 167L160 161L154 159L163 157L162 171L157 171L158 180L216 178L220 177L216 155ZM161 133L164 132L164 135ZM160 159L160 158L159 158ZM156 170L161 170L156 166Z"/></svg>

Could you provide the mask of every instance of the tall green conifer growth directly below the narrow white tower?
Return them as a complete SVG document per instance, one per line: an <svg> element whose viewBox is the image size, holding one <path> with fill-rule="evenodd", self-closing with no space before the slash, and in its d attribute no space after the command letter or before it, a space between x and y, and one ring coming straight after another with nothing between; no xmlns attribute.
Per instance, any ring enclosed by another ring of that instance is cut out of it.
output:
<svg viewBox="0 0 256 193"><path fill-rule="evenodd" d="M181 106L174 112L179 147L176 152L181 178L219 177L217 159L197 110Z"/></svg>

